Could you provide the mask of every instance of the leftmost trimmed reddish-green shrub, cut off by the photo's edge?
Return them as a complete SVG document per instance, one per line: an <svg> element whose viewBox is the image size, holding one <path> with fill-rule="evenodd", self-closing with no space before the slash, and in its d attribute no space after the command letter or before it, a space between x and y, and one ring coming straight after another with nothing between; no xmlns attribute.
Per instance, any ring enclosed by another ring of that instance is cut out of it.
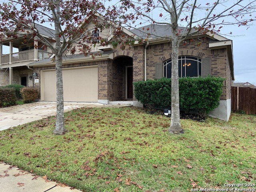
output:
<svg viewBox="0 0 256 192"><path fill-rule="evenodd" d="M9 107L16 104L15 90L13 88L0 88L0 107Z"/></svg>

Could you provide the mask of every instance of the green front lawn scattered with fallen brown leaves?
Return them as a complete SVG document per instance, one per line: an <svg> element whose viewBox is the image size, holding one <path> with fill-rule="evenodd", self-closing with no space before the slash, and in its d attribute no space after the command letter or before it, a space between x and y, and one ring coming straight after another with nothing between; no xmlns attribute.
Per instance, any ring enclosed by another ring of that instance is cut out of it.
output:
<svg viewBox="0 0 256 192"><path fill-rule="evenodd" d="M168 133L170 118L136 108L67 112L64 136L52 133L54 122L1 131L0 161L86 192L182 192L256 182L256 116L181 120L180 135Z"/></svg>

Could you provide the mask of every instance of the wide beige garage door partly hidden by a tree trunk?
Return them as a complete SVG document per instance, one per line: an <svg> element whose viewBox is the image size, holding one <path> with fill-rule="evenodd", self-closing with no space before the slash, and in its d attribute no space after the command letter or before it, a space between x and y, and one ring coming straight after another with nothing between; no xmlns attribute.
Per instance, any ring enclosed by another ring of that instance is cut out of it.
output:
<svg viewBox="0 0 256 192"><path fill-rule="evenodd" d="M63 92L66 102L98 102L98 68L63 69ZM56 101L55 70L42 72L44 101Z"/></svg>

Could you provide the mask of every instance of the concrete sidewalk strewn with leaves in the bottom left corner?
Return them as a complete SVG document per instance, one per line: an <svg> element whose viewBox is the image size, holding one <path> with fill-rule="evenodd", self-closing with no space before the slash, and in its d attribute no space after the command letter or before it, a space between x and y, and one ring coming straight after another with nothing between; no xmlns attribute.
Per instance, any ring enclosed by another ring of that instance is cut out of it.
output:
<svg viewBox="0 0 256 192"><path fill-rule="evenodd" d="M36 176L17 167L0 163L0 191L2 192L82 192L63 184Z"/></svg>

